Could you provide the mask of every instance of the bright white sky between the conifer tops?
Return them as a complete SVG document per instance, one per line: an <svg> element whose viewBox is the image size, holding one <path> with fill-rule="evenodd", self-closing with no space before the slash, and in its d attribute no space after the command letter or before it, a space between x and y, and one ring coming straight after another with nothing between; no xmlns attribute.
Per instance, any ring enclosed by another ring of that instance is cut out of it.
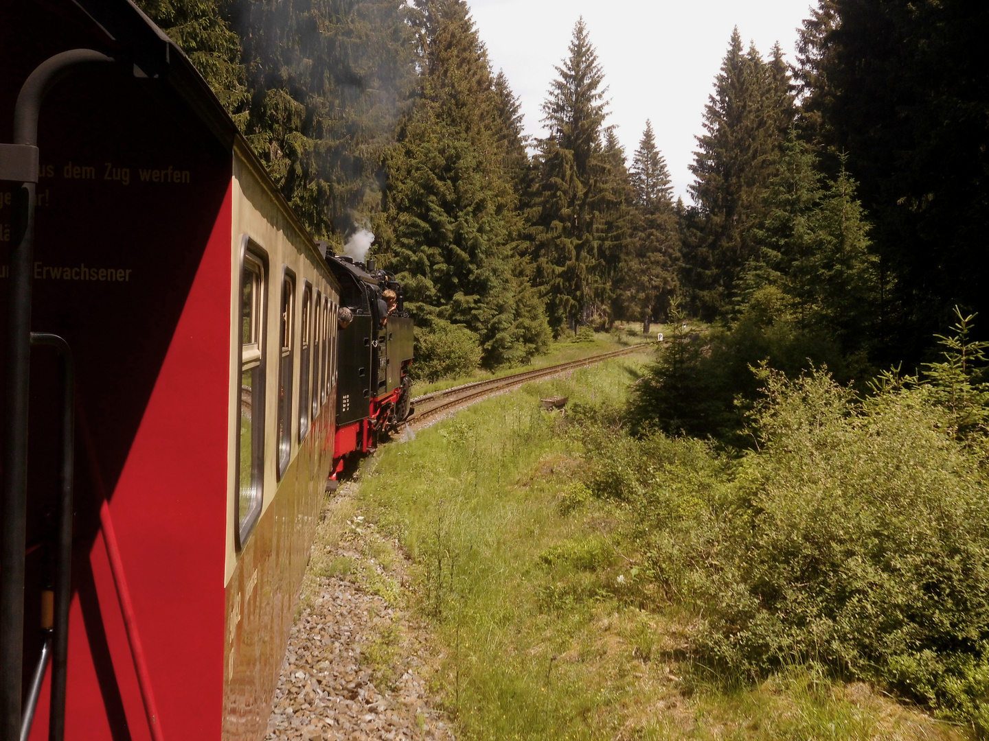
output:
<svg viewBox="0 0 989 741"><path fill-rule="evenodd" d="M732 28L766 56L779 41L793 61L796 29L812 0L468 0L494 71L521 98L526 131L544 132L540 106L554 65L584 16L610 86L611 116L631 161L646 119L667 158L676 195L689 203L694 135ZM816 5L816 2L814 3Z"/></svg>

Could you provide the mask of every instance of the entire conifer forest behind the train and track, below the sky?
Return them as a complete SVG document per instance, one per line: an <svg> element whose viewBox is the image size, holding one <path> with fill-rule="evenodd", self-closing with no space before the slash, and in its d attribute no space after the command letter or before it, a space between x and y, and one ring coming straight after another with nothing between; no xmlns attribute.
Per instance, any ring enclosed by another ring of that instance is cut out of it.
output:
<svg viewBox="0 0 989 741"><path fill-rule="evenodd" d="M618 143L583 21L530 140L464 0L139 4L315 236L342 249L373 232L423 337L465 363L616 319L648 330L675 300L726 348L759 336L736 368L809 357L861 378L928 360L956 304L984 308L989 76L971 3L821 0L793 64L736 32L689 205L649 122L634 152Z"/></svg>

